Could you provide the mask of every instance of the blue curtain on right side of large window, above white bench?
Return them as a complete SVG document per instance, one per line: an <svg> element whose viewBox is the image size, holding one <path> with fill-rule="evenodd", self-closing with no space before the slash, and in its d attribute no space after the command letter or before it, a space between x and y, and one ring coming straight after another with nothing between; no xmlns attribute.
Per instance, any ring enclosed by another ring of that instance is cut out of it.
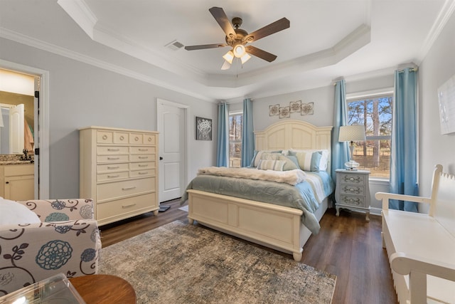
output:
<svg viewBox="0 0 455 304"><path fill-rule="evenodd" d="M392 117L390 192L418 195L417 185L417 69L395 71L395 103ZM417 211L417 203L396 201L390 209Z"/></svg>

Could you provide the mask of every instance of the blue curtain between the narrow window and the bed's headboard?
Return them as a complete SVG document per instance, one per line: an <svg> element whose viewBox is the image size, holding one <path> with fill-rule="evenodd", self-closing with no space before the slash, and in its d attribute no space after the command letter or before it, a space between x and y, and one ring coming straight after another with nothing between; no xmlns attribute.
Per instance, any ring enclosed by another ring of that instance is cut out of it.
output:
<svg viewBox="0 0 455 304"><path fill-rule="evenodd" d="M243 100L242 126L242 167L250 166L255 154L255 133L253 132L253 105L250 98Z"/></svg>

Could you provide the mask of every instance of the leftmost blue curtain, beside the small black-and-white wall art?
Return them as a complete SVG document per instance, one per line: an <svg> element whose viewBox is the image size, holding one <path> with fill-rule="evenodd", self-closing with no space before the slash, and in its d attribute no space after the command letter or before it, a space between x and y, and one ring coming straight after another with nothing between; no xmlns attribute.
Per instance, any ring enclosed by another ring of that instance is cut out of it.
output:
<svg viewBox="0 0 455 304"><path fill-rule="evenodd" d="M229 105L218 105L217 167L229 167Z"/></svg>

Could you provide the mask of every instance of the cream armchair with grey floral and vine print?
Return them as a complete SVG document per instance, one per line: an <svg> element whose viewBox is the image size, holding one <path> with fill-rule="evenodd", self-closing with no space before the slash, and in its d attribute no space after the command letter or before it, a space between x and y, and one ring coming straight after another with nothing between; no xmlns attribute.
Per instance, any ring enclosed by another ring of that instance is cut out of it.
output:
<svg viewBox="0 0 455 304"><path fill-rule="evenodd" d="M18 203L41 223L0 226L0 296L57 273L97 273L101 240L91 199Z"/></svg>

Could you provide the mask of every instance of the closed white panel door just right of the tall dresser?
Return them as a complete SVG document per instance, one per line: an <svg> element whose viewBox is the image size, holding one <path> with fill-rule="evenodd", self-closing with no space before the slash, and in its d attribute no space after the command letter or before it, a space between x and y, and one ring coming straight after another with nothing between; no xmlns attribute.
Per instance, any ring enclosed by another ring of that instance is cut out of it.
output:
<svg viewBox="0 0 455 304"><path fill-rule="evenodd" d="M159 201L181 197L185 189L186 110L158 100Z"/></svg>

